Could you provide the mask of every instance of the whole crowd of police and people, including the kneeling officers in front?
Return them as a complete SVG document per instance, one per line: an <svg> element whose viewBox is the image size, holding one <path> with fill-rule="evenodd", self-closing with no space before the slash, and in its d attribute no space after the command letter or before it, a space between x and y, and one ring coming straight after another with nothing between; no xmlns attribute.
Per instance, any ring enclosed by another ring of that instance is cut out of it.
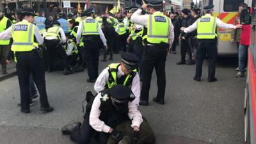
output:
<svg viewBox="0 0 256 144"><path fill-rule="evenodd" d="M163 13L162 3L148 0L141 8L132 6L128 12L115 14L98 14L93 8L88 8L79 15L68 13L65 17L63 13L56 13L49 19L45 18L44 11L36 16L31 8L17 10L16 15L8 19L1 10L1 64L3 74L6 74L6 63L11 59L17 62L20 111L31 112L32 99L38 97L35 84L40 94L40 110L46 113L54 110L47 99L45 71L63 70L67 75L87 68L86 81L95 83L97 95L87 92L83 123L66 125L63 133L70 134L70 139L76 143L90 143L92 138L102 144L120 141L154 143L154 132L138 111L139 105L149 105L154 68L158 89L153 101L164 104L166 56L176 54L179 41L181 60L177 65L196 64L194 79L201 81L202 63L207 55L208 81L214 82L217 81L217 26L222 29L242 28L241 33L247 28L241 24L225 24L213 17L212 5L205 6L205 15L200 17L197 8L185 8L181 15L173 10ZM241 7L244 8L244 4ZM241 34L239 50L246 49L247 43L243 43L242 37ZM113 54L120 51L122 54L120 63L109 64L99 74L100 49L103 49L102 62L112 61ZM240 60L243 56L239 52L241 73L245 67L244 59Z"/></svg>

